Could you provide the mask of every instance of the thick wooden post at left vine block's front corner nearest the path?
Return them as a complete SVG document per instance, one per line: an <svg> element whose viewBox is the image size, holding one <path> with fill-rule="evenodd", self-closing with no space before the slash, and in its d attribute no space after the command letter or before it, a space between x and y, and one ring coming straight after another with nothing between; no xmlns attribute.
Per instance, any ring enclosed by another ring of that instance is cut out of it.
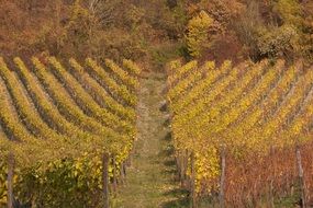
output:
<svg viewBox="0 0 313 208"><path fill-rule="evenodd" d="M110 163L110 158L108 153L103 154L103 159L102 159L102 166L103 166L103 172L102 172L102 176L103 176L103 208L110 208L110 204L109 204L109 183L110 183L110 178L109 178L109 163Z"/></svg>

